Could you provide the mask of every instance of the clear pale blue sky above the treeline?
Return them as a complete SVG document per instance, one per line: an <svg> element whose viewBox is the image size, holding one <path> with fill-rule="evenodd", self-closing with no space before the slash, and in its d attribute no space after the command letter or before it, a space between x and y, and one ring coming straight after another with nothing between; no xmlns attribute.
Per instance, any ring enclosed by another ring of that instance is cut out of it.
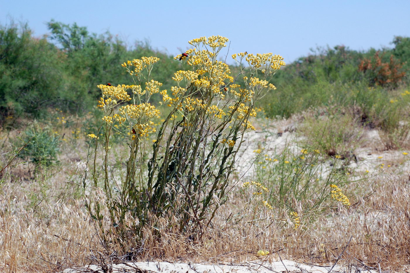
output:
<svg viewBox="0 0 410 273"><path fill-rule="evenodd" d="M27 22L36 36L55 19L98 34L108 30L129 45L148 40L176 55L190 39L222 35L231 41L230 54L272 52L287 62L316 46L391 47L394 36L410 37L409 14L410 0L0 0L0 23Z"/></svg>

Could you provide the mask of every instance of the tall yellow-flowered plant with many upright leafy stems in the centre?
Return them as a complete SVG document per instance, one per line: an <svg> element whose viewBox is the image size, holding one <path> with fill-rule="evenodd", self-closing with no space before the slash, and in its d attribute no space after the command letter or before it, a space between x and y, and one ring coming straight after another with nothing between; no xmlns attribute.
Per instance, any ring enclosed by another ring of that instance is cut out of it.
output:
<svg viewBox="0 0 410 273"><path fill-rule="evenodd" d="M98 107L104 111L100 131L105 136L96 139L97 132L89 137L104 145L104 177L100 183L97 144L93 186L103 184L112 222L109 231L121 240L141 239L141 229L147 224L155 227L159 218L172 219L174 229L176 225L180 232L200 237L225 202L244 133L255 130L250 120L256 116L254 105L276 89L269 80L285 65L281 56L272 53L234 54L232 58L243 68L236 75L244 82L239 85L229 66L219 61L227 41L221 36L189 41L192 48L175 56L187 69L174 73L170 90L150 78L157 57L122 64L133 78L132 85L98 85L102 91ZM152 101L153 94L159 94L161 101ZM169 114L155 128L153 120L161 114L158 108L164 107ZM124 134L129 156L121 188L114 187L109 170L110 136L118 126L129 132ZM150 135L153 141L148 140ZM87 206L101 223L98 204Z"/></svg>

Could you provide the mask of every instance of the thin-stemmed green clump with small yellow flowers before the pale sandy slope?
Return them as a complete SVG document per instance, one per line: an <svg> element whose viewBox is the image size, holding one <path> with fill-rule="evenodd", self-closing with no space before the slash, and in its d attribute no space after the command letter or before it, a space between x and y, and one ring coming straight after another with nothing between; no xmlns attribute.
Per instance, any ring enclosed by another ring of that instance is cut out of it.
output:
<svg viewBox="0 0 410 273"><path fill-rule="evenodd" d="M345 195L344 200L331 198L335 184L343 186L354 181L354 176L345 169L346 163L339 156L329 159L320 147L295 149L287 144L280 154L269 154L262 149L254 151L255 181L242 185L253 186L252 199L259 197L257 202L265 207L279 209L284 215L290 213L293 221L297 219L294 223L297 227L301 226L300 217L305 223L315 221L324 211L337 207L339 201L350 206Z"/></svg>

